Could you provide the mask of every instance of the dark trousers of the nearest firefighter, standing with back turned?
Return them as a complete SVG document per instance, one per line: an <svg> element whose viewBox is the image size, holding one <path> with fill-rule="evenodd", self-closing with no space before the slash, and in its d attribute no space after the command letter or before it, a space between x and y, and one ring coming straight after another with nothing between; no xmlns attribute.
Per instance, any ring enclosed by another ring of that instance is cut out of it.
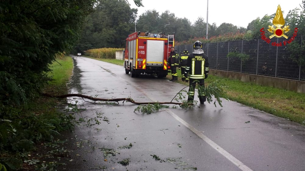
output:
<svg viewBox="0 0 305 171"><path fill-rule="evenodd" d="M195 96L195 87L196 84L198 84L198 87L200 86L200 89L204 89L204 79L200 79L200 80L194 80L194 79L189 79L189 89L188 89L188 101L193 102L194 101L194 96ZM200 104L203 104L203 102L206 101L206 95L204 94L203 91L201 91L198 88L198 97L199 97L199 101Z"/></svg>

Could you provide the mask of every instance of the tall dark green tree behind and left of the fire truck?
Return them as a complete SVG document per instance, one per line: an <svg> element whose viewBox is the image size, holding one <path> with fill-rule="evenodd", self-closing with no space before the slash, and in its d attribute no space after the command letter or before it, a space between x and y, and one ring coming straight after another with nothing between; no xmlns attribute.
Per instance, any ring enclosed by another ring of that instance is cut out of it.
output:
<svg viewBox="0 0 305 171"><path fill-rule="evenodd" d="M133 30L137 9L125 0L100 0L88 16L75 49L84 51L103 47L120 47Z"/></svg>

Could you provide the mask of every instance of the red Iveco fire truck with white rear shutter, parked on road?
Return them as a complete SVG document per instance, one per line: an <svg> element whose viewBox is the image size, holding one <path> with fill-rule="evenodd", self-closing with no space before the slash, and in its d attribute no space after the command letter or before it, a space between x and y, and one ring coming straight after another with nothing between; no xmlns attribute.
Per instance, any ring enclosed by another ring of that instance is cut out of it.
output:
<svg viewBox="0 0 305 171"><path fill-rule="evenodd" d="M170 72L167 57L170 48L174 46L174 34L134 32L124 41L126 41L124 51L126 74L130 72L131 77L156 74L158 78L162 78Z"/></svg>

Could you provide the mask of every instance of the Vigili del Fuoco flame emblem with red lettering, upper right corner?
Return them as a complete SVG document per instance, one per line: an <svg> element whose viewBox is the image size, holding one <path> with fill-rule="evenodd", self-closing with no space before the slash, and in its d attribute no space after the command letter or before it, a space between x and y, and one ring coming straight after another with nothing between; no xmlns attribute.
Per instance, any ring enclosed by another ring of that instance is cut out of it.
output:
<svg viewBox="0 0 305 171"><path fill-rule="evenodd" d="M276 10L274 19L272 21L272 24L275 26L268 26L269 29L267 29L269 32L272 33L271 36L266 37L265 36L265 31L264 31L264 27L262 29L260 29L260 35L261 39L264 40L265 42L267 42L268 44L271 42L271 38L273 37L285 37L286 39L288 39L288 36L285 35L285 33L289 32L289 26L285 26L285 20L283 17L283 13L281 10L281 6L278 5L278 9ZM286 46L287 44L291 43L295 37L296 37L296 33L298 32L298 28L294 29L293 32L293 36L289 39L289 40L284 40L283 42L277 43L277 42L272 42L271 45L272 46Z"/></svg>

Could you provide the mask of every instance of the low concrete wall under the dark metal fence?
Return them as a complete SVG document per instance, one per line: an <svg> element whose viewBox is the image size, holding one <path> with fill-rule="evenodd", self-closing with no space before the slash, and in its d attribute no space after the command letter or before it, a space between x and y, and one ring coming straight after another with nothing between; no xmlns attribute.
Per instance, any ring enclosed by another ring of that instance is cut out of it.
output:
<svg viewBox="0 0 305 171"><path fill-rule="evenodd" d="M305 93L305 81L289 80L285 78L268 77L262 75L245 74L239 72L213 70L213 69L210 69L209 74L216 75L219 77L238 79L243 82L256 83L258 85L282 88L289 91L295 91L298 93Z"/></svg>

